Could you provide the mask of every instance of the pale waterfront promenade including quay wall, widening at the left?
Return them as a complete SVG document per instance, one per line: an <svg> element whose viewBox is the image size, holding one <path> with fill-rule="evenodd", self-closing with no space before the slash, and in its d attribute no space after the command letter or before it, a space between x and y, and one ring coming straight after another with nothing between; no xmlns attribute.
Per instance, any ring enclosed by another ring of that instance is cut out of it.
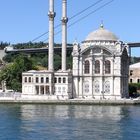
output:
<svg viewBox="0 0 140 140"><path fill-rule="evenodd" d="M56 96L33 96L27 97L22 96L19 93L0 93L0 103L19 103L19 104L66 104L66 105L137 105L140 104L140 98L129 98L129 99L90 99L90 98L75 98L65 99L56 98Z"/></svg>

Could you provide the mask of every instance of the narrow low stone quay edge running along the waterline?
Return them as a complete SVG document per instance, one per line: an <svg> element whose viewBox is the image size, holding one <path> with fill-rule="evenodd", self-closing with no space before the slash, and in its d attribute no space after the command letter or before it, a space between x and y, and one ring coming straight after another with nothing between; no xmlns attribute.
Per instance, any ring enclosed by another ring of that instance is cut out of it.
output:
<svg viewBox="0 0 140 140"><path fill-rule="evenodd" d="M0 104L53 104L53 105L140 105L140 99L120 100L24 100L24 99L0 99Z"/></svg>

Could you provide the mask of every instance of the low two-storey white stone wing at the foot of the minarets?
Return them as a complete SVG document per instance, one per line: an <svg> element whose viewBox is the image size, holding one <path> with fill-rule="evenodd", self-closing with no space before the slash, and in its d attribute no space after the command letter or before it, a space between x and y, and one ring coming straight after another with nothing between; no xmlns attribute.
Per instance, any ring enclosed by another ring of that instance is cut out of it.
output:
<svg viewBox="0 0 140 140"><path fill-rule="evenodd" d="M23 95L48 95L57 98L72 98L71 71L28 71L22 74Z"/></svg>

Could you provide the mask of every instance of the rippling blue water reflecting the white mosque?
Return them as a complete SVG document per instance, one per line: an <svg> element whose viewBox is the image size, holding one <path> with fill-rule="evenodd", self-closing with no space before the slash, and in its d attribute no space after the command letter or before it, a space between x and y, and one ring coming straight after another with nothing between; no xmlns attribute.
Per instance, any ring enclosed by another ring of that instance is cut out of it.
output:
<svg viewBox="0 0 140 140"><path fill-rule="evenodd" d="M0 140L109 139L140 139L140 106L0 105Z"/></svg>

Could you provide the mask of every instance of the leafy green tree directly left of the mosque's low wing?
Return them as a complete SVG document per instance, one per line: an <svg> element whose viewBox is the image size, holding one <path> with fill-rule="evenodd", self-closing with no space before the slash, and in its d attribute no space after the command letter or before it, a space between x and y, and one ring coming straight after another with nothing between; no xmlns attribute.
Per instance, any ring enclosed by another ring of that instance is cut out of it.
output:
<svg viewBox="0 0 140 140"><path fill-rule="evenodd" d="M0 82L5 80L8 88L21 91L22 72L31 69L37 69L34 61L26 55L18 55L13 63L0 71Z"/></svg>

